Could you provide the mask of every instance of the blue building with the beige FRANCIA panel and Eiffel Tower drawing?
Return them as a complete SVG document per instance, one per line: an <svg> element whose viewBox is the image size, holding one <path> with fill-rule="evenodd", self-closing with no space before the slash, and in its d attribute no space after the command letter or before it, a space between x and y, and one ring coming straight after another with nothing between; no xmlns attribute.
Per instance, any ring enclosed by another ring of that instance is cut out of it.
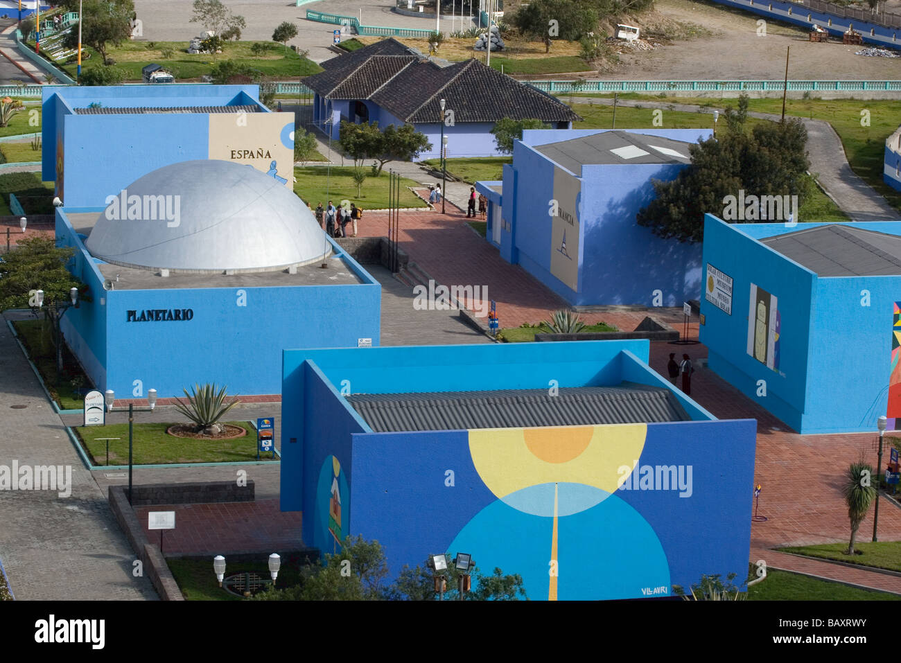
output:
<svg viewBox="0 0 901 663"><path fill-rule="evenodd" d="M699 244L663 240L635 215L653 180L690 164L712 132L525 131L502 182L478 182L487 241L569 304L678 306L701 290Z"/></svg>

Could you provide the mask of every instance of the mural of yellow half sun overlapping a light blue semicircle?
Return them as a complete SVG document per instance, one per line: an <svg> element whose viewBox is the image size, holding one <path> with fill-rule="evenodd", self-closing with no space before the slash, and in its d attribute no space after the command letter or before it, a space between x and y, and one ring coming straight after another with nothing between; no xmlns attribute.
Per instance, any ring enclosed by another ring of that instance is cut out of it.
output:
<svg viewBox="0 0 901 663"><path fill-rule="evenodd" d="M638 586L669 591L660 540L641 513L614 495L624 483L618 470L631 473L646 431L645 424L469 431L476 470L497 500L466 524L449 551L478 550L483 569L510 568L516 560L536 599L620 598ZM591 564L605 569L603 586L586 581L588 550Z"/></svg>

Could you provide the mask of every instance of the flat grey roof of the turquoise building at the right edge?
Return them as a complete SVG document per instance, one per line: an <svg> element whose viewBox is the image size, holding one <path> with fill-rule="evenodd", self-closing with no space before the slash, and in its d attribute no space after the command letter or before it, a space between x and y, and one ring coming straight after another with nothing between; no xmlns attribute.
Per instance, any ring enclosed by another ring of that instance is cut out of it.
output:
<svg viewBox="0 0 901 663"><path fill-rule="evenodd" d="M901 237L846 225L821 225L760 240L821 277L901 274Z"/></svg>

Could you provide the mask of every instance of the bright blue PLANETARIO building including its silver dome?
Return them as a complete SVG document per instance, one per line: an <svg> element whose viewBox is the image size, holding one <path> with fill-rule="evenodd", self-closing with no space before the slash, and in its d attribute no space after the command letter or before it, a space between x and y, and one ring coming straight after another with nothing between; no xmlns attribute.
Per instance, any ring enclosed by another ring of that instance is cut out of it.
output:
<svg viewBox="0 0 901 663"><path fill-rule="evenodd" d="M101 391L277 395L285 348L378 345L381 286L278 177L182 161L111 197L56 217L90 299L60 328Z"/></svg>

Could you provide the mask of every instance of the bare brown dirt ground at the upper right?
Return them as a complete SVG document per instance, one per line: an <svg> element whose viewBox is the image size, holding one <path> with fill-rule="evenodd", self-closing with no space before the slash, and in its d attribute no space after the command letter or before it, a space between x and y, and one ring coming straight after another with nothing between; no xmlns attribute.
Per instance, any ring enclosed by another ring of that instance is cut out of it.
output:
<svg viewBox="0 0 901 663"><path fill-rule="evenodd" d="M605 78L729 79L781 78L786 48L791 47L788 77L794 79L897 79L901 59L854 55L860 47L807 41L807 32L768 22L767 34L757 34L759 17L690 0L657 0L649 24L669 21L696 23L710 36L672 41L652 51L621 55L621 62L603 72ZM662 19L662 20L661 20Z"/></svg>

